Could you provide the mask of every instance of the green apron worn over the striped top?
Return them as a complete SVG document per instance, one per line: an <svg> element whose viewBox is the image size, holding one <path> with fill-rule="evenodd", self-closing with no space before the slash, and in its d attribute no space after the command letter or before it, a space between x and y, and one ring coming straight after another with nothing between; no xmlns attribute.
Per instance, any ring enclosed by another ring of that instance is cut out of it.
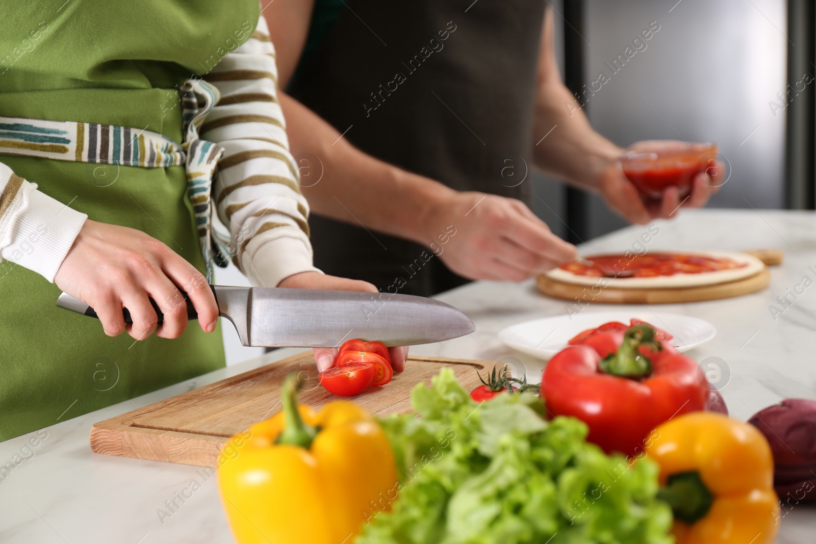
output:
<svg viewBox="0 0 816 544"><path fill-rule="evenodd" d="M255 0L11 3L0 22L0 116L146 128L176 142L180 86L245 42L259 16ZM137 228L205 270L184 166L0 161L89 219ZM55 307L59 294L0 263L0 440L224 366L220 329L205 334L193 321L174 340L109 338L99 321Z"/></svg>

